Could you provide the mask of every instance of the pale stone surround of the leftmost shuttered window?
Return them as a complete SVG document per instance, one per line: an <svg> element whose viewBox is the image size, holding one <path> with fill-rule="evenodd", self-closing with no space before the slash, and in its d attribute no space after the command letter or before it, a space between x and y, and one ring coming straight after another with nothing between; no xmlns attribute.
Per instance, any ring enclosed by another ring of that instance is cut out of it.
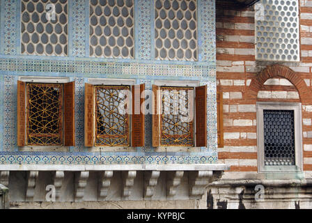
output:
<svg viewBox="0 0 312 223"><path fill-rule="evenodd" d="M42 77L42 76L19 76L17 80L25 83L39 83L39 84L65 84L70 82L70 77ZM64 88L64 86L63 86ZM62 88L62 89L63 89ZM64 91L64 89L63 89ZM26 89L25 89L25 95L26 95ZM62 94L62 100L64 102L64 94ZM19 106L19 105L17 105ZM25 134L26 134L26 118L27 118L27 99L25 97ZM64 105L63 105L63 111L62 111L62 122L63 122L63 139L62 139L62 145L60 146L36 146L36 145L26 145L26 138L25 138L25 146L18 146L19 151L69 151L70 146L64 146Z"/></svg>

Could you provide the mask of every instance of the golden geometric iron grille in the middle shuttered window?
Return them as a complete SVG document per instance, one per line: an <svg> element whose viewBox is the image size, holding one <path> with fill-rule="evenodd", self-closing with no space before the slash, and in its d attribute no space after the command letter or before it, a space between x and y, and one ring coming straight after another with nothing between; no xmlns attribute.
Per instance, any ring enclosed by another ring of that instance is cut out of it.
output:
<svg viewBox="0 0 312 223"><path fill-rule="evenodd" d="M95 86L95 146L130 146L130 86Z"/></svg>

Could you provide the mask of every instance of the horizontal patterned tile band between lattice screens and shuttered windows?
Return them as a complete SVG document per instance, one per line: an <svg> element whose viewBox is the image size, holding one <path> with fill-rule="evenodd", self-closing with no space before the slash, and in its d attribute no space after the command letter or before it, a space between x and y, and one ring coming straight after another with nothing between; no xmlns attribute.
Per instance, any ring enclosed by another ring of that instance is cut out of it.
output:
<svg viewBox="0 0 312 223"><path fill-rule="evenodd" d="M84 75L137 75L146 77L211 77L215 82L215 74L210 72L214 68L207 65L180 65L162 63L118 63L76 60L40 60L40 59L1 59L0 70L12 72L54 72L80 73ZM211 80L212 80L211 79Z"/></svg>

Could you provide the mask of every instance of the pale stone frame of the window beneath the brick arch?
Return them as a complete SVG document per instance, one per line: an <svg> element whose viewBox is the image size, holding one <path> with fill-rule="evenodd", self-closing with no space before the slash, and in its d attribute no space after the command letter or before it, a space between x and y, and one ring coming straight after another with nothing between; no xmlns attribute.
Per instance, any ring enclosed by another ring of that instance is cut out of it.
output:
<svg viewBox="0 0 312 223"><path fill-rule="evenodd" d="M263 110L292 110L295 123L295 165L265 166ZM257 102L258 173L303 171L302 104L300 102Z"/></svg>

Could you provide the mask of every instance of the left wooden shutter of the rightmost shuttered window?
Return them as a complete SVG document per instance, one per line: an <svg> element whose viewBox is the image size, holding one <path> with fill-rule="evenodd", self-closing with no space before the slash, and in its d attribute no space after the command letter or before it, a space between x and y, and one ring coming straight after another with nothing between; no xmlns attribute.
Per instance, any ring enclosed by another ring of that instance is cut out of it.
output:
<svg viewBox="0 0 312 223"><path fill-rule="evenodd" d="M159 112L159 99L160 99L160 91L159 91L159 86L154 85L152 86L153 89L153 114L152 114L152 135L153 135L153 146L157 147L159 146L159 141L160 141L160 112Z"/></svg>

